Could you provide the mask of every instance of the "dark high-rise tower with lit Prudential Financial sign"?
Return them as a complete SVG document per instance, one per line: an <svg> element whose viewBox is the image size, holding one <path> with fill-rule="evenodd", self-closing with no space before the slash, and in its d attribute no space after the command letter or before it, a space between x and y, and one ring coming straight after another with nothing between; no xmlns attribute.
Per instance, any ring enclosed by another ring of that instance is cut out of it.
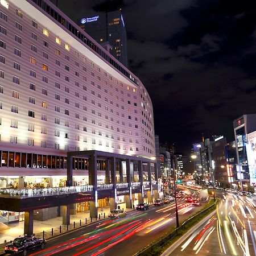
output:
<svg viewBox="0 0 256 256"><path fill-rule="evenodd" d="M109 48L115 59L128 66L126 28L121 10L84 16L78 23L97 43Z"/></svg>

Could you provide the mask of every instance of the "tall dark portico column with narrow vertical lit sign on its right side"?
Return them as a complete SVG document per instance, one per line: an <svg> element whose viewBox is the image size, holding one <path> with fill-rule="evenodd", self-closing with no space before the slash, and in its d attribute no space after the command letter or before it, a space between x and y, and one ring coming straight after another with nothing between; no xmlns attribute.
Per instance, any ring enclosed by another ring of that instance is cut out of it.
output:
<svg viewBox="0 0 256 256"><path fill-rule="evenodd" d="M97 155L92 154L88 159L89 185L93 185L94 201L90 201L90 217L98 216L98 199L97 194Z"/></svg>

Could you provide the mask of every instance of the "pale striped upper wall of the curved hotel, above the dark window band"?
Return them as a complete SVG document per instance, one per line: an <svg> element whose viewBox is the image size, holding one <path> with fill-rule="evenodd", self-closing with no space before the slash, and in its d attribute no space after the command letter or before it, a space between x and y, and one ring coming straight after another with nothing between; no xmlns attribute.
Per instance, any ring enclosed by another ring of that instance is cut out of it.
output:
<svg viewBox="0 0 256 256"><path fill-rule="evenodd" d="M155 156L152 104L142 83L135 85L115 71L69 31L57 27L48 14L26 13L36 10L30 1L7 2L9 9L0 5L0 40L6 43L5 48L0 47L4 73L0 78L0 150L55 155L66 155L67 150L100 150ZM22 17L16 10L22 11ZM16 28L16 22L22 30ZM44 29L49 36L43 34ZM15 35L21 43L15 41ZM20 56L15 55L15 48ZM36 65L31 63L35 60ZM31 84L35 90L30 89ZM13 106L18 113L11 112ZM29 110L34 117L28 116Z"/></svg>

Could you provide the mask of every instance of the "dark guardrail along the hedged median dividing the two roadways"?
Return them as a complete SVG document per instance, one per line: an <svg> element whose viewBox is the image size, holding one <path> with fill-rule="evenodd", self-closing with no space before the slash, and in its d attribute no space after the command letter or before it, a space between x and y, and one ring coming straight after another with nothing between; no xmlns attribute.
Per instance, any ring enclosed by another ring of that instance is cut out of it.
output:
<svg viewBox="0 0 256 256"><path fill-rule="evenodd" d="M159 241L153 243L152 245L146 247L143 251L140 251L139 253L135 254L135 256L142 256L142 255L150 255L150 252L153 251L156 247L162 248L164 245L166 245L168 242L170 242L173 238L175 238L179 232L179 230L182 230L185 225L187 225L189 222L192 222L193 219L197 216L200 216L204 212L206 212L208 209L216 206L217 200L214 204L210 205L209 207L205 208L201 212L197 213L193 217L189 218L188 220L184 221L183 224L179 226L179 228L175 229L173 232L168 234L167 236L163 237Z"/></svg>

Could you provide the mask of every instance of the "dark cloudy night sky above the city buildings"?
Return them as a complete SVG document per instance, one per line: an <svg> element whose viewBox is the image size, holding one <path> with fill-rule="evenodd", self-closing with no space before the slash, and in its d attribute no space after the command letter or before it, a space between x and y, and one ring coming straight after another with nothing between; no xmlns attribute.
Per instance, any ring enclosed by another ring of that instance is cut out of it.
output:
<svg viewBox="0 0 256 256"><path fill-rule="evenodd" d="M154 106L155 134L188 153L256 113L256 1L59 0L70 18L122 9L129 69Z"/></svg>

